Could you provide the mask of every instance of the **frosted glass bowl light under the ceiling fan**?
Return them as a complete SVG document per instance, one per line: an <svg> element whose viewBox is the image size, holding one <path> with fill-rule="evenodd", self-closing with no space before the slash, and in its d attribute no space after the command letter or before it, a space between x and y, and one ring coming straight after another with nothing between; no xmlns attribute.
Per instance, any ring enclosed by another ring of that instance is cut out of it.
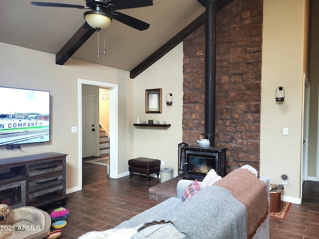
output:
<svg viewBox="0 0 319 239"><path fill-rule="evenodd" d="M84 12L84 18L91 27L97 30L107 28L112 22L111 17L102 11L96 10Z"/></svg>

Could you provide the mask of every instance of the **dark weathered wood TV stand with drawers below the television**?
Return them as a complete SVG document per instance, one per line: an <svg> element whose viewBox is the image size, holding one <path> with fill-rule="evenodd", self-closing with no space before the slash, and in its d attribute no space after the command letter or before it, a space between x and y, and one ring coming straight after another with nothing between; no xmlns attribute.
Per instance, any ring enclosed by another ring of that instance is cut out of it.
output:
<svg viewBox="0 0 319 239"><path fill-rule="evenodd" d="M12 209L57 203L65 206L66 155L48 152L0 159L0 173L15 175L0 180L0 203Z"/></svg>

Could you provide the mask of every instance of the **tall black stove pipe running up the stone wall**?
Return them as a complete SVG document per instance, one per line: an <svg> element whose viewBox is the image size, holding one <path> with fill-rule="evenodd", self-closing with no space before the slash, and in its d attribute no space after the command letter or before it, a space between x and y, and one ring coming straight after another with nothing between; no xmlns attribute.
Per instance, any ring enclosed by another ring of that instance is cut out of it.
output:
<svg viewBox="0 0 319 239"><path fill-rule="evenodd" d="M216 14L217 0L206 0L205 49L205 133L210 146L215 146L215 77L216 77Z"/></svg>

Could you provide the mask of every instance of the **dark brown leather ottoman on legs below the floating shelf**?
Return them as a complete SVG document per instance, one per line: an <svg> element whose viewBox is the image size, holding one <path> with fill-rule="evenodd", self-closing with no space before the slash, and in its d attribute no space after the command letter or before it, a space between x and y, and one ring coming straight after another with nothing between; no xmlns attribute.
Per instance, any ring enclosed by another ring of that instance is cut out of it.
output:
<svg viewBox="0 0 319 239"><path fill-rule="evenodd" d="M160 160L153 158L134 158L129 160L130 179L134 173L146 174L146 182L149 182L150 174L156 173L159 178L160 175Z"/></svg>

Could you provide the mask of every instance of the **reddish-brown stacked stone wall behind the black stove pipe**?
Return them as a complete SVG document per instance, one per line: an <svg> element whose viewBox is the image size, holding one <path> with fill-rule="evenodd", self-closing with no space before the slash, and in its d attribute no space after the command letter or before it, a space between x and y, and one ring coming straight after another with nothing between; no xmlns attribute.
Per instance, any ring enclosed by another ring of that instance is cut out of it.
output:
<svg viewBox="0 0 319 239"><path fill-rule="evenodd" d="M217 13L215 146L226 173L259 170L263 0L234 0ZM183 142L205 133L205 24L183 41Z"/></svg>

